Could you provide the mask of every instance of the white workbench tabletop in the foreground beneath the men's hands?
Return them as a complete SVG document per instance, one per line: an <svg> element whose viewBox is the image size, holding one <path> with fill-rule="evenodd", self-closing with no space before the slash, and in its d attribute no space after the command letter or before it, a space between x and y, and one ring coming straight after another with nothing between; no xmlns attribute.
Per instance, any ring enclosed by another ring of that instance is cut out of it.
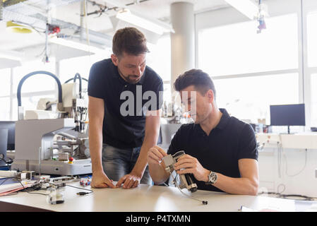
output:
<svg viewBox="0 0 317 226"><path fill-rule="evenodd" d="M79 186L79 183L73 182L70 185ZM200 202L181 194L177 188L167 186L141 184L136 189L93 189L94 192L86 196L76 195L78 191L83 190L66 186L65 202L57 205L47 203L45 196L25 192L0 197L0 203L63 212L232 212L238 211L241 206L255 210L271 208L280 211L299 211L296 201L284 198L238 196L200 190L191 194L194 198L208 201L208 205L203 206ZM189 194L186 189L182 191Z"/></svg>

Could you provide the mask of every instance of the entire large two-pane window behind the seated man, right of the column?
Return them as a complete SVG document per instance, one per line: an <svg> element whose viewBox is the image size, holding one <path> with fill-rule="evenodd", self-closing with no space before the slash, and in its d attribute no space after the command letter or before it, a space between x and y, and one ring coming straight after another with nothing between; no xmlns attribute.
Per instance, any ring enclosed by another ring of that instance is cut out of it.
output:
<svg viewBox="0 0 317 226"><path fill-rule="evenodd" d="M299 102L297 14L198 30L198 66L215 83L218 107L270 124L270 105Z"/></svg>

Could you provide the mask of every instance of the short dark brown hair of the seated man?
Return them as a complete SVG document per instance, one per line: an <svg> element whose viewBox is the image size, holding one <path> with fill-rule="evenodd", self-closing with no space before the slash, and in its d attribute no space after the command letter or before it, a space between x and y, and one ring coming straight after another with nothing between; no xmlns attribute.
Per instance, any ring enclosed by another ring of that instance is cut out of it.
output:
<svg viewBox="0 0 317 226"><path fill-rule="evenodd" d="M202 95L205 95L208 90L213 90L215 100L215 85L208 73L205 73L199 69L191 69L189 71L186 71L177 77L176 81L174 82L174 89L176 91L181 91L189 87L190 85L194 85L198 92L200 92Z"/></svg>

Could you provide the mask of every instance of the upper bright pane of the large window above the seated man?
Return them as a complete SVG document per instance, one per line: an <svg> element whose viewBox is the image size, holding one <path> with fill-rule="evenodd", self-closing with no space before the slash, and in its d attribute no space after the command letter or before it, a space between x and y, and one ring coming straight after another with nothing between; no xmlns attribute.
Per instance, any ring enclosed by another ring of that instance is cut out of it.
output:
<svg viewBox="0 0 317 226"><path fill-rule="evenodd" d="M298 68L297 15L255 20L198 32L198 66L210 76Z"/></svg>

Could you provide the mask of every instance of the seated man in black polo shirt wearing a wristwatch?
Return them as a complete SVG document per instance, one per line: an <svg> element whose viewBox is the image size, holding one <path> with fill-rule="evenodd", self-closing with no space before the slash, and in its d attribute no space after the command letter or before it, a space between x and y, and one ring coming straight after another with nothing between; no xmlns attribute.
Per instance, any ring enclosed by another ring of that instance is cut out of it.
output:
<svg viewBox="0 0 317 226"><path fill-rule="evenodd" d="M148 165L155 184L169 178L162 157L184 150L186 155L179 157L175 169L178 174L193 174L198 189L256 195L258 151L252 127L218 109L215 86L207 73L186 71L174 88L195 123L181 126L167 153L157 146L149 150Z"/></svg>

